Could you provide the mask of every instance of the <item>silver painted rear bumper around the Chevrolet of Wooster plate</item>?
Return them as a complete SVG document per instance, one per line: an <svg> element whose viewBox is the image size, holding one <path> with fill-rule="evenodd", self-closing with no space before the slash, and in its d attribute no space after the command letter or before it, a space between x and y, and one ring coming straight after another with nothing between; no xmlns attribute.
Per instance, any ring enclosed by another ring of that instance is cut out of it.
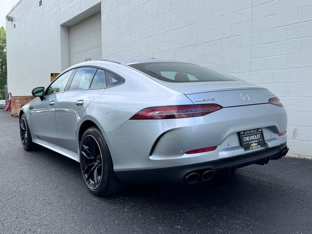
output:
<svg viewBox="0 0 312 234"><path fill-rule="evenodd" d="M265 148L286 143L284 107L272 104L228 107L209 115L181 118L128 120L119 129L104 133L114 171L171 168L246 155L238 132L262 128ZM217 146L209 152L186 154Z"/></svg>

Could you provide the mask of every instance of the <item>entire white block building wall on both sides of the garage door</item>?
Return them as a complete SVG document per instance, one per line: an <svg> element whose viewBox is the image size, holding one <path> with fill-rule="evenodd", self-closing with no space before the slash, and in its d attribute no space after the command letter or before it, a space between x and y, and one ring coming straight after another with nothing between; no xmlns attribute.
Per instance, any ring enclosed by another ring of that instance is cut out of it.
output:
<svg viewBox="0 0 312 234"><path fill-rule="evenodd" d="M64 69L61 25L97 3L103 58L192 62L267 87L288 112L290 154L312 156L312 0L46 0L42 10L22 0L7 22L14 95Z"/></svg>

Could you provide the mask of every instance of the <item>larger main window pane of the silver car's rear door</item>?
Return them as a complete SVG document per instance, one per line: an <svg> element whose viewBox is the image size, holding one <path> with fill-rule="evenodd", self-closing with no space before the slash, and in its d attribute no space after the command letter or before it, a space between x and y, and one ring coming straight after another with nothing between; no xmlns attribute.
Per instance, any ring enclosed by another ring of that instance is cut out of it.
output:
<svg viewBox="0 0 312 234"><path fill-rule="evenodd" d="M96 68L94 67L80 67L77 69L69 90L89 89L90 83L94 76Z"/></svg>

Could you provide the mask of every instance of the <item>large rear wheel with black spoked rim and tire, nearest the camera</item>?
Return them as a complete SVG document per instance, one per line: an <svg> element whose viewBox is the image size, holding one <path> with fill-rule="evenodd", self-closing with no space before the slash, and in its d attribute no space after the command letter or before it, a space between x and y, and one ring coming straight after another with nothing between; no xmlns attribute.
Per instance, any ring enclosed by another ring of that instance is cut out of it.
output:
<svg viewBox="0 0 312 234"><path fill-rule="evenodd" d="M114 173L110 150L97 127L90 127L82 136L80 169L89 191L96 196L105 197L126 187Z"/></svg>

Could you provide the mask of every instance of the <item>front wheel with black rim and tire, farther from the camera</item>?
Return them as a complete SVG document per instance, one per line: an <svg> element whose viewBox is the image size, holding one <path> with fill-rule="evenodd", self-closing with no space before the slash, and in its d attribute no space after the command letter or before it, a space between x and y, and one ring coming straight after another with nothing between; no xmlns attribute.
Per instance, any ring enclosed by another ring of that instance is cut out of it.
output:
<svg viewBox="0 0 312 234"><path fill-rule="evenodd" d="M30 134L29 126L27 123L26 115L23 114L20 119L20 136L22 146L27 151L39 150L40 145L32 142L32 135Z"/></svg>

